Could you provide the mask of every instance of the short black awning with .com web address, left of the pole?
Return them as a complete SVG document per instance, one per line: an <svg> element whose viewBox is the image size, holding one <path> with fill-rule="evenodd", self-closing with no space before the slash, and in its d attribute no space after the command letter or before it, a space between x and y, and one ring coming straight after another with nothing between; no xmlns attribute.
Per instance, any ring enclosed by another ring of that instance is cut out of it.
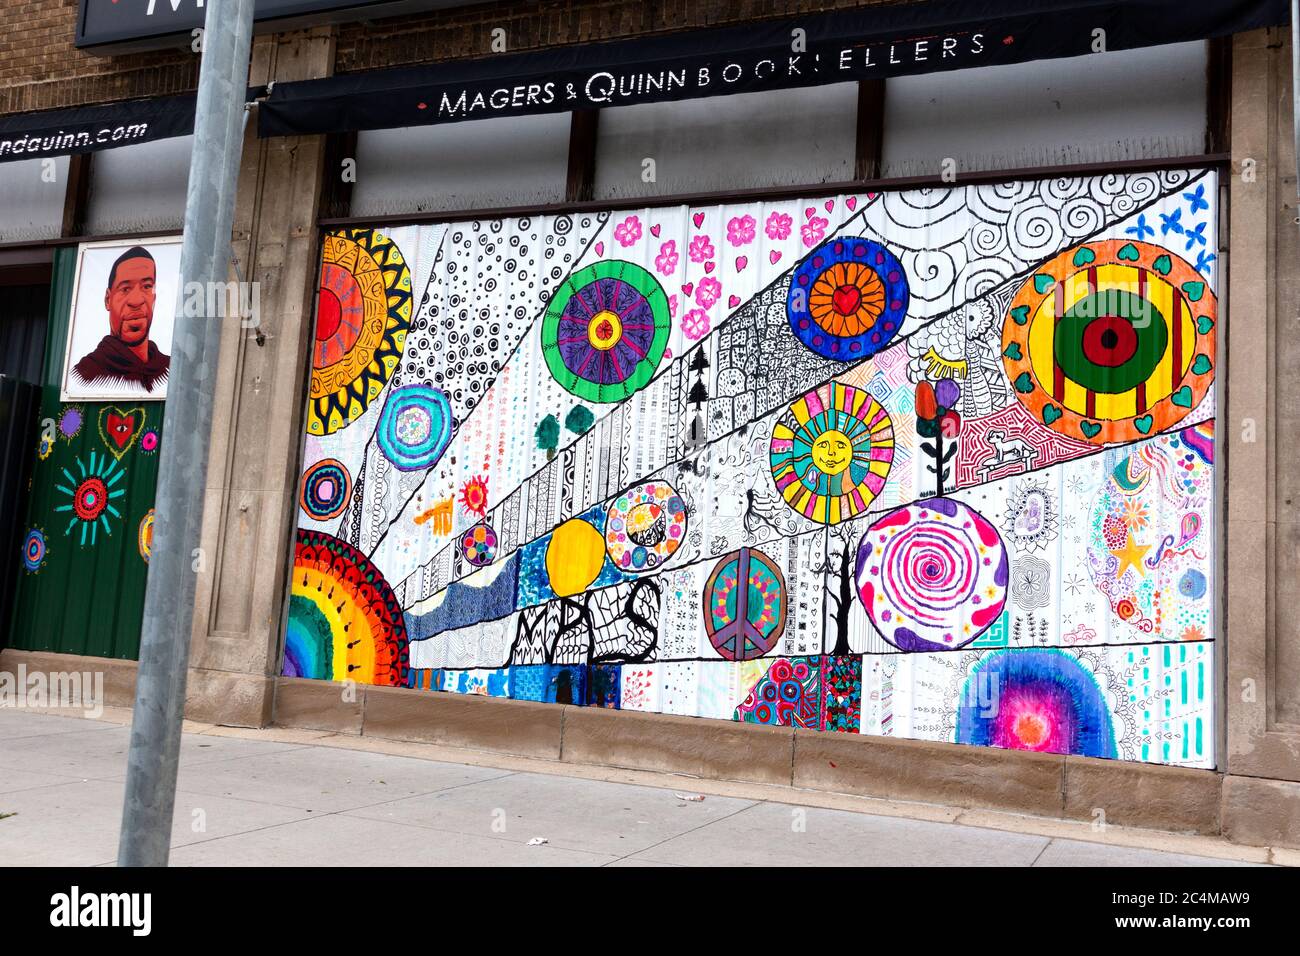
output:
<svg viewBox="0 0 1300 956"><path fill-rule="evenodd" d="M0 116L0 163L112 150L194 130L195 95Z"/></svg>

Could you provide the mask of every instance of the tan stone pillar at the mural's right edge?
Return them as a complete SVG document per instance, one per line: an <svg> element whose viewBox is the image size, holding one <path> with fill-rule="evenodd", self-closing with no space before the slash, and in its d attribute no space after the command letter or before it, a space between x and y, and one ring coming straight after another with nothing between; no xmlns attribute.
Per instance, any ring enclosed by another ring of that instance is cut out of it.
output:
<svg viewBox="0 0 1300 956"><path fill-rule="evenodd" d="M1300 845L1300 225L1290 31L1232 47L1226 453L1223 831Z"/></svg>

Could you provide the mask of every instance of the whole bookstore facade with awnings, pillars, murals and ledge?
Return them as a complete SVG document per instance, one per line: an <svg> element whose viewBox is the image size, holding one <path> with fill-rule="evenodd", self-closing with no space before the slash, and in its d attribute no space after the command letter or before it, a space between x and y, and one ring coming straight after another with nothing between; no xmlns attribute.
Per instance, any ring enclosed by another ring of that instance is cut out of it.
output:
<svg viewBox="0 0 1300 956"><path fill-rule="evenodd" d="M38 7L0 665L126 704L198 56ZM1300 845L1286 10L957 7L264 22L187 714Z"/></svg>

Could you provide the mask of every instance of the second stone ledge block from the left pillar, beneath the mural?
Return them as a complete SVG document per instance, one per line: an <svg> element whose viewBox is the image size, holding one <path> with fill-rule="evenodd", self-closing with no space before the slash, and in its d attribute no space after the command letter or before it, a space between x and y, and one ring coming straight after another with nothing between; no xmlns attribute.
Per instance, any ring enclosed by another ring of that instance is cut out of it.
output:
<svg viewBox="0 0 1300 956"><path fill-rule="evenodd" d="M559 760L563 719L555 704L367 687L361 735Z"/></svg>

